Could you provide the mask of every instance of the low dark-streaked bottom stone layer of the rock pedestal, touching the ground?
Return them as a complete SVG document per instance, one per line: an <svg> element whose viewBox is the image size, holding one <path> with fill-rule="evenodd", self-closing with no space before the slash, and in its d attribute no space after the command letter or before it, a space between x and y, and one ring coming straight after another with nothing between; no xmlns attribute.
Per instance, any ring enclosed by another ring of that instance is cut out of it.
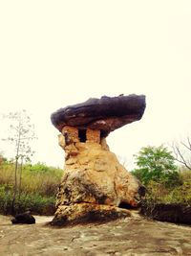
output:
<svg viewBox="0 0 191 256"><path fill-rule="evenodd" d="M82 202L59 206L54 214L52 225L66 226L82 223L102 223L130 216L131 212L127 209Z"/></svg>

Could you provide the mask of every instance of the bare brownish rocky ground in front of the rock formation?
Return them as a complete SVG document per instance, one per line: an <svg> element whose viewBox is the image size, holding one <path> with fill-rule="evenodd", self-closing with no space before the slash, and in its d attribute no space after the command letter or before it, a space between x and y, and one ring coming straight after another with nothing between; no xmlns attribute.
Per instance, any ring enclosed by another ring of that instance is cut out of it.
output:
<svg viewBox="0 0 191 256"><path fill-rule="evenodd" d="M191 226L132 218L105 224L53 228L52 217L12 225L0 216L1 256L191 255Z"/></svg>

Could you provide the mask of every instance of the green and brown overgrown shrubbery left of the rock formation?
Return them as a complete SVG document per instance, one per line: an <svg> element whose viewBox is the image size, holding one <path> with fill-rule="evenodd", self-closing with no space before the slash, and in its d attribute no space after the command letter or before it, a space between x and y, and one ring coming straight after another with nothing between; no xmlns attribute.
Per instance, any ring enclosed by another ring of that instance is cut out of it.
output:
<svg viewBox="0 0 191 256"><path fill-rule="evenodd" d="M20 192L15 198L15 212L28 209L33 214L53 215L55 195L63 171L44 164L24 165ZM19 175L18 175L19 177ZM19 178L18 178L19 184ZM11 214L14 186L14 164L0 163L0 213Z"/></svg>

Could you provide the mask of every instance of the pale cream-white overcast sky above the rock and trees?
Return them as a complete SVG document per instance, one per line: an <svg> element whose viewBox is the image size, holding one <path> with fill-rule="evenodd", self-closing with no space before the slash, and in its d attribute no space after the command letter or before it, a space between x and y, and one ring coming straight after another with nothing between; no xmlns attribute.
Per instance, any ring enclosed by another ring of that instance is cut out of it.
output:
<svg viewBox="0 0 191 256"><path fill-rule="evenodd" d="M32 113L34 160L63 166L50 115L90 97L146 95L143 118L108 137L127 166L141 147L189 132L190 0L2 0L0 36L0 113ZM6 129L1 120L0 137Z"/></svg>

